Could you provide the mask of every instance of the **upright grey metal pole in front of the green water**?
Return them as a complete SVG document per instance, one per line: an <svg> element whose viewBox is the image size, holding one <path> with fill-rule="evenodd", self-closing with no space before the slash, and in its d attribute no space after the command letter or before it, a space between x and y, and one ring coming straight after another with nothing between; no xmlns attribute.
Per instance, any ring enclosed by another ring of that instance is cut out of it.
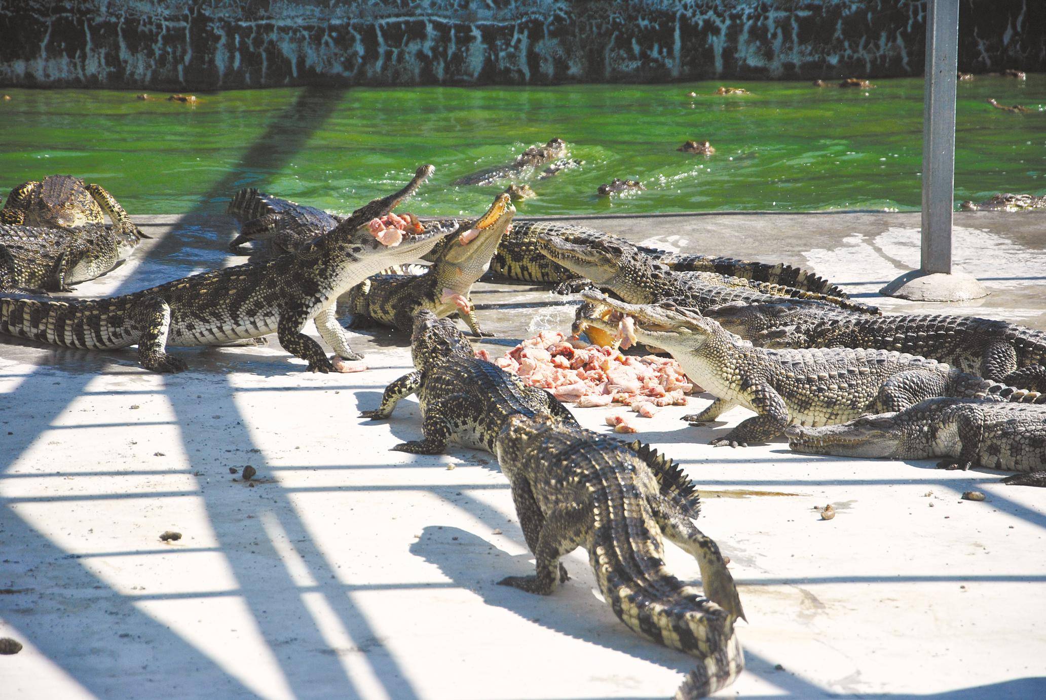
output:
<svg viewBox="0 0 1046 700"><path fill-rule="evenodd" d="M927 0L923 107L924 273L952 272L959 0Z"/></svg>

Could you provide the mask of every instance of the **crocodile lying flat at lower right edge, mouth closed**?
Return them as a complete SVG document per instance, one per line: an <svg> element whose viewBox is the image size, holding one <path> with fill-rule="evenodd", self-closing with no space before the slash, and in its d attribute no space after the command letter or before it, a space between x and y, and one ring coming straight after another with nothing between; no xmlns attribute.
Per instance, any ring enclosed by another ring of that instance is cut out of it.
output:
<svg viewBox="0 0 1046 700"><path fill-rule="evenodd" d="M839 457L925 460L941 469L1030 472L1007 483L1046 486L1046 405L932 398L840 425L793 426L789 447ZM1038 472L1038 473L1036 473Z"/></svg>

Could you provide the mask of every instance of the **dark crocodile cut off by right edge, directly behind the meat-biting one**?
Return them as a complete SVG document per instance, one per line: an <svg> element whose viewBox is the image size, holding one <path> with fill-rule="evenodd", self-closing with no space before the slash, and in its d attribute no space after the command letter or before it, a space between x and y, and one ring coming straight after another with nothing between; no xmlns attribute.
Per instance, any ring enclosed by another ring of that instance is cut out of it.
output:
<svg viewBox="0 0 1046 700"><path fill-rule="evenodd" d="M1046 392L1046 332L1007 321L930 313L850 316L766 331L757 337L756 344L768 348L896 350Z"/></svg>

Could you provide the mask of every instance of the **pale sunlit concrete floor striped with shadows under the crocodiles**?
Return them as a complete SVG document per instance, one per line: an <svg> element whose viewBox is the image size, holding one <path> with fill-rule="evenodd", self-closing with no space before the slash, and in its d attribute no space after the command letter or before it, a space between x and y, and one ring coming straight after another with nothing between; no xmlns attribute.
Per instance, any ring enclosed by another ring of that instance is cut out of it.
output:
<svg viewBox="0 0 1046 700"><path fill-rule="evenodd" d="M224 216L141 219L144 255L84 295L241 261ZM942 307L881 300L917 264L917 214L714 214L585 220L680 250L813 267L889 310L978 313L1046 328L1046 216L960 213L956 259L992 296ZM569 299L481 285L503 352L566 329ZM584 553L538 598L491 456L389 451L420 435L413 400L358 416L407 372L403 335L355 344L371 370L314 375L276 344L133 351L0 343L0 656L4 698L663 698L693 659L634 635ZM1046 696L1046 492L933 462L712 448L711 428L640 419L640 438L704 489L701 528L732 560L748 669L723 696ZM578 410L607 429L610 410ZM230 470L251 465L253 484ZM978 489L983 503L959 495ZM822 521L815 506L833 504ZM164 531L182 534L163 542ZM698 567L668 545L681 578Z"/></svg>

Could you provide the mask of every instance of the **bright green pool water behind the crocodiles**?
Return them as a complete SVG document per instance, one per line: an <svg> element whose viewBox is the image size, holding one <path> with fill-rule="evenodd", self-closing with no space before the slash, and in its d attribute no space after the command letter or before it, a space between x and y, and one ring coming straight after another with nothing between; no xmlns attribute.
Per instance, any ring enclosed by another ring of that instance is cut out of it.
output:
<svg viewBox="0 0 1046 700"><path fill-rule="evenodd" d="M476 213L500 186L451 186L565 139L576 169L529 184L521 214L918 209L923 81L867 90L809 83L551 88L272 89L166 94L7 90L0 102L0 187L73 173L132 213L223 211L255 186L332 211L399 187L422 163L436 174L420 214ZM687 93L693 92L696 97ZM1028 114L992 108L1020 103ZM708 140L710 157L679 153ZM645 191L599 197L614 178ZM956 203L1046 192L1046 75L977 76L958 87Z"/></svg>

